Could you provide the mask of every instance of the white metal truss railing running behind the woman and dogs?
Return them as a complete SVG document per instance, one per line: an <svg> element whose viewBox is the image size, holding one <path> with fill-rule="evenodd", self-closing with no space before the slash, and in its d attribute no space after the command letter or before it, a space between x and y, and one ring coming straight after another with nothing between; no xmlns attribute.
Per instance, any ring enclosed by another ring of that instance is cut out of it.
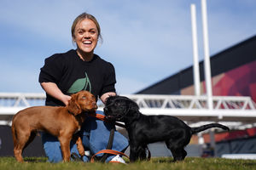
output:
<svg viewBox="0 0 256 170"><path fill-rule="evenodd" d="M145 115L172 115L188 123L256 122L256 105L250 97L212 96L213 109L207 108L207 96L129 94ZM0 121L10 122L16 112L33 105L44 105L45 94L0 93ZM103 105L99 105L102 110ZM1 124L1 122L0 122ZM2 123L3 124L3 123Z"/></svg>

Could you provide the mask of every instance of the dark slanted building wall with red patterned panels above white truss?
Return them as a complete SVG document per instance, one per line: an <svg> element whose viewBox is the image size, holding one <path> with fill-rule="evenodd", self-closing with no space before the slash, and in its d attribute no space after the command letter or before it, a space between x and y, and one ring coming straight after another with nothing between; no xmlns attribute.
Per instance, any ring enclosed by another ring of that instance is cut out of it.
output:
<svg viewBox="0 0 256 170"><path fill-rule="evenodd" d="M255 99L256 36L211 56L212 94L249 95ZM191 56L192 57L192 56ZM204 63L199 63L201 94L205 94ZM136 94L194 94L193 65Z"/></svg>

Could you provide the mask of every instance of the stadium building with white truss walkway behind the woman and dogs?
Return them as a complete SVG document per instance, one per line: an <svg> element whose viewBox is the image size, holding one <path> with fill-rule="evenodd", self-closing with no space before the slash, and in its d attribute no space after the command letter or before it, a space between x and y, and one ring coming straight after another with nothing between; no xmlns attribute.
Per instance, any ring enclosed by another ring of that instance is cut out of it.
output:
<svg viewBox="0 0 256 170"><path fill-rule="evenodd" d="M255 156L255 46L253 36L210 57L212 108L204 61L199 63L200 94L195 94L195 71L191 65L127 97L134 99L145 115L177 116L191 127L207 122L230 127L230 132L209 130L195 135L186 148L188 156ZM10 125L14 114L32 105L44 105L44 99L45 94L0 94L0 156L13 156ZM118 130L126 135L124 129ZM153 156L171 156L162 143L151 144L149 149ZM26 148L24 156L45 156L39 136Z"/></svg>

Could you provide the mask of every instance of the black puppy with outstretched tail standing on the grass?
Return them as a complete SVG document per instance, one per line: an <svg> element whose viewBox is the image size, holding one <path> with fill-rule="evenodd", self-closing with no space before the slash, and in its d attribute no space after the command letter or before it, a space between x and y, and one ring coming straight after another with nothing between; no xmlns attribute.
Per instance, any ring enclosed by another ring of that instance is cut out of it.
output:
<svg viewBox="0 0 256 170"><path fill-rule="evenodd" d="M131 161L146 159L147 144L158 141L166 142L174 161L182 161L187 156L184 147L189 144L192 134L211 127L230 130L218 123L189 127L175 116L145 116L139 111L137 103L123 96L109 97L104 112L109 120L125 122Z"/></svg>

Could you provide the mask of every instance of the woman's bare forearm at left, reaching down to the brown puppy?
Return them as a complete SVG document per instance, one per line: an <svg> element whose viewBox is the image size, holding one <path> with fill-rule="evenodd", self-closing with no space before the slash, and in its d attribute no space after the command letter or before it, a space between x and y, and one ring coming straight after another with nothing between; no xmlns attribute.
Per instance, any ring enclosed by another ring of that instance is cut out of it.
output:
<svg viewBox="0 0 256 170"><path fill-rule="evenodd" d="M63 94L55 82L42 82L41 86L47 94L51 95L55 99L61 100L65 105L68 105L68 101L71 99L71 97Z"/></svg>

